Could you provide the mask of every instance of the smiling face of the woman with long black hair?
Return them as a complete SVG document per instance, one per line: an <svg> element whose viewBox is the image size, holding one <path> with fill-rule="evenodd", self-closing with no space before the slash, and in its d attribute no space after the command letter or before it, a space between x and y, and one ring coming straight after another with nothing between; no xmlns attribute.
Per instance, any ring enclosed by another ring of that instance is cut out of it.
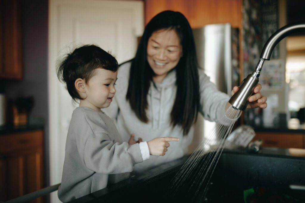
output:
<svg viewBox="0 0 305 203"><path fill-rule="evenodd" d="M155 75L156 83L161 83L167 73L173 69L182 56L182 46L175 30L157 30L147 43L147 61Z"/></svg>

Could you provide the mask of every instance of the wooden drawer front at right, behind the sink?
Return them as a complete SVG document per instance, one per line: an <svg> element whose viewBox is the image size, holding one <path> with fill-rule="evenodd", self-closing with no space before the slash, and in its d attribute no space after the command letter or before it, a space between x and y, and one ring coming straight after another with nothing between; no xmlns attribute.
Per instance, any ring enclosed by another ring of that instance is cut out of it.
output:
<svg viewBox="0 0 305 203"><path fill-rule="evenodd" d="M302 133L256 132L254 140L262 139L263 147L305 148Z"/></svg>

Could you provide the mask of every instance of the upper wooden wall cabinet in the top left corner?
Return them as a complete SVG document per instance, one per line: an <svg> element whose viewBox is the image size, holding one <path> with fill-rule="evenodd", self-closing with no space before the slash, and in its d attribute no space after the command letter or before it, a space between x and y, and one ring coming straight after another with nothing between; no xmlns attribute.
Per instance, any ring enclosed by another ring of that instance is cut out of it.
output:
<svg viewBox="0 0 305 203"><path fill-rule="evenodd" d="M23 78L22 0L0 0L0 78Z"/></svg>

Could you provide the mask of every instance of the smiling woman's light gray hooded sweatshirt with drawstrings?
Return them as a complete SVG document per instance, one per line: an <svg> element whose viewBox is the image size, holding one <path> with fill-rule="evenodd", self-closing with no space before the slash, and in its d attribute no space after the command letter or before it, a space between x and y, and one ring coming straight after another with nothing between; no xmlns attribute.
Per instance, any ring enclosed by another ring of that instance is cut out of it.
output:
<svg viewBox="0 0 305 203"><path fill-rule="evenodd" d="M162 83L156 83L157 88L151 82L147 95L148 110L146 111L149 122L143 123L140 121L126 100L130 65L131 62L127 62L120 66L116 82L117 92L111 105L103 109L110 118L114 119L122 140L128 141L131 133L135 133L136 140L141 137L143 141L166 136L180 139L178 142L170 142L170 147L164 156L150 156L145 162L136 164L135 172L142 173L145 170L184 156L192 142L194 127L191 128L188 135L183 136L180 125L172 128L170 124L170 112L177 91L175 70L169 72ZM216 86L210 82L210 78L200 69L199 82L200 113L206 120L220 121L225 117L224 108L229 96L218 91Z"/></svg>

